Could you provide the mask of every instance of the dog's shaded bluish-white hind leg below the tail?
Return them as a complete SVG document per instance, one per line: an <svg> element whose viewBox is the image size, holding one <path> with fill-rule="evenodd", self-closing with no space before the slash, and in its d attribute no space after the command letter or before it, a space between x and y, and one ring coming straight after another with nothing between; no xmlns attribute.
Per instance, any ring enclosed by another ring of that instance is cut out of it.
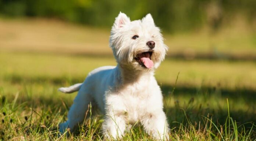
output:
<svg viewBox="0 0 256 141"><path fill-rule="evenodd" d="M70 131L74 131L74 128L85 118L88 105L92 101L92 97L89 94L88 87L83 84L75 97L74 103L68 112L68 120L59 125L61 133L65 132L65 129L70 128Z"/></svg>

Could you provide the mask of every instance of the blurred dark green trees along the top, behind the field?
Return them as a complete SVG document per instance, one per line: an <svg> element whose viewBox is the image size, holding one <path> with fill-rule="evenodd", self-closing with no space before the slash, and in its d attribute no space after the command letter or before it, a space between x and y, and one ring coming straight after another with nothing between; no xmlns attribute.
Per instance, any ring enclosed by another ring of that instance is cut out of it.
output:
<svg viewBox="0 0 256 141"><path fill-rule="evenodd" d="M113 24L122 11L132 20L151 13L165 31L193 30L209 25L216 30L223 19L242 14L255 21L256 0L0 0L6 16L59 18L93 26Z"/></svg>

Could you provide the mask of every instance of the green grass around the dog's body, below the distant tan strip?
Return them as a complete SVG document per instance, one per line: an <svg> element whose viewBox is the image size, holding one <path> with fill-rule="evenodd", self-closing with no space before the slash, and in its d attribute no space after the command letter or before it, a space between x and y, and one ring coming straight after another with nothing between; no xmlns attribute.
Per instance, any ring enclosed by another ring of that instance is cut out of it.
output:
<svg viewBox="0 0 256 141"><path fill-rule="evenodd" d="M86 74L95 67L115 65L113 58L17 52L0 54L0 63L3 66L0 68L0 129L3 140L100 140L102 115L92 116L71 137L58 136L57 125L66 120L68 107L76 94L63 94L57 92L57 88L82 82ZM240 73L243 69L255 70L252 64L165 60L156 71L156 78L164 94L164 109L172 129L170 137L173 140L255 140L254 100L248 98L249 95L239 96L239 93L232 91L253 90L253 71L251 77L248 77L250 71L246 75ZM166 71L171 68L170 65L175 68ZM230 69L229 72L232 69L237 71L225 73L227 70L211 70L217 66ZM178 72L179 78L175 86ZM191 75L191 72L196 73ZM192 83L192 80L197 82L195 78L200 78L203 74L211 76L209 80L205 78L209 85L203 81L198 82L202 83L201 86ZM234 76L238 80L245 77L248 83L241 80L237 82L237 86L214 83L225 84L225 79L235 79ZM166 81L167 78L170 81ZM222 80L223 78L225 79ZM241 87L238 87L239 84ZM230 92L225 92L224 88ZM246 93L242 91L242 94ZM124 140L152 138L143 132L141 126L135 126L125 134Z"/></svg>

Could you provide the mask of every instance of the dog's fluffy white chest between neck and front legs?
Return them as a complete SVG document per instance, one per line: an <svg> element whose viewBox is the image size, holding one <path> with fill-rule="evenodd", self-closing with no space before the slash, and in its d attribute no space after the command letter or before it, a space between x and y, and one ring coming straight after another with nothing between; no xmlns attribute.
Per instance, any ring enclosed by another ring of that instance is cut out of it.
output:
<svg viewBox="0 0 256 141"><path fill-rule="evenodd" d="M107 111L123 116L133 124L161 105L159 96L160 89L154 81L126 85L106 95Z"/></svg>

